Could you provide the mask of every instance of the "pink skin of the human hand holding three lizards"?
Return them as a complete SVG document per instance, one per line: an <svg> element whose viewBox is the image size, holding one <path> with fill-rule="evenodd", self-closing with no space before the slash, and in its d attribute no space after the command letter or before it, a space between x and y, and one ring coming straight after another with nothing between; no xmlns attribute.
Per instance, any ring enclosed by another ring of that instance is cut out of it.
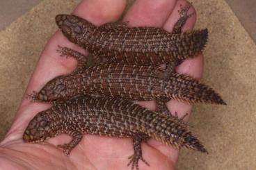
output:
<svg viewBox="0 0 256 170"><path fill-rule="evenodd" d="M137 0L124 17L129 26L157 26L172 31L175 22L179 19L180 4L184 0ZM115 22L125 9L125 0L84 0L74 10L79 15L95 25L106 22ZM191 7L189 14L195 12ZM195 24L196 15L190 17L183 31L188 31ZM77 65L74 58L61 58L56 52L58 45L67 46L77 51L83 51L78 46L68 42L60 31L57 31L45 46L37 67L25 94L33 90L40 90L47 81L58 75L70 73ZM177 72L188 74L194 78L202 76L203 58L196 56L185 60L177 67ZM154 110L154 101L141 101L141 105ZM191 105L169 101L167 106L170 112L177 112L179 117L191 112ZM32 103L29 99L22 99L19 110L8 134L0 143L1 169L131 169L127 167L128 157L133 154L134 148L131 139L118 139L84 135L82 141L75 147L69 156L63 154L57 144L70 140L67 135L58 135L40 144L28 144L22 140L22 135L29 121L50 105L47 103ZM189 119L185 117L185 121ZM143 158L150 163L150 167L142 161L138 162L139 169L175 169L178 159L178 150L150 139L142 144Z"/></svg>

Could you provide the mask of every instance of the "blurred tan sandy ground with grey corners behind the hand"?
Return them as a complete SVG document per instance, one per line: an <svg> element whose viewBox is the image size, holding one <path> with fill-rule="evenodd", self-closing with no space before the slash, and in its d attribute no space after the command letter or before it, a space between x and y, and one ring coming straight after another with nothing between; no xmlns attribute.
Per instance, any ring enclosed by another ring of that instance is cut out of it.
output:
<svg viewBox="0 0 256 170"><path fill-rule="evenodd" d="M209 29L203 81L227 106L195 105L190 123L209 155L183 149L178 169L256 169L256 1L191 0ZM0 141L11 126L54 18L79 0L0 1ZM129 1L127 8L131 5Z"/></svg>

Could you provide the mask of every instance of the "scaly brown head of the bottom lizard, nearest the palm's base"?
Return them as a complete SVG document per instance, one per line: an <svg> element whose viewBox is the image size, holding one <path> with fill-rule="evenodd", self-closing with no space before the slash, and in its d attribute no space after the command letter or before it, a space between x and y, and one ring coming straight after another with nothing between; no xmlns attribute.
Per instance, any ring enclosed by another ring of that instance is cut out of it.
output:
<svg viewBox="0 0 256 170"><path fill-rule="evenodd" d="M45 111L36 114L26 127L23 134L24 142L42 142L55 136L50 123L51 121Z"/></svg>

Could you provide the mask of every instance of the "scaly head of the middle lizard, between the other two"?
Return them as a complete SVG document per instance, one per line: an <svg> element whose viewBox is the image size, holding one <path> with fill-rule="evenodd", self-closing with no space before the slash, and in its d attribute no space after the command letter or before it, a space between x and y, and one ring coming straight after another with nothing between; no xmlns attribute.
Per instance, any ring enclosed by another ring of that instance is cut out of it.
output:
<svg viewBox="0 0 256 170"><path fill-rule="evenodd" d="M65 76L58 76L50 80L39 92L28 94L27 99L32 101L54 102L64 101L70 97L67 93Z"/></svg>

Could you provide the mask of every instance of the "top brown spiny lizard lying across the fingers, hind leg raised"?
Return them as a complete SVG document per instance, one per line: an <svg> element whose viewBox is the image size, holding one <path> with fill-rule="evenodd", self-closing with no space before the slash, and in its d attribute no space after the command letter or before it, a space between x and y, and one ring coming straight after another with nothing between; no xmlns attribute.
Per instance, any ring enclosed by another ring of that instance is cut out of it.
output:
<svg viewBox="0 0 256 170"><path fill-rule="evenodd" d="M187 15L190 7L189 3L179 10L181 17L173 33L154 27L130 28L125 23L95 26L74 15L57 15L56 23L68 40L86 49L97 61L106 59L139 65L169 63L175 67L201 53L207 42L207 29L182 33L186 19L193 15Z"/></svg>

